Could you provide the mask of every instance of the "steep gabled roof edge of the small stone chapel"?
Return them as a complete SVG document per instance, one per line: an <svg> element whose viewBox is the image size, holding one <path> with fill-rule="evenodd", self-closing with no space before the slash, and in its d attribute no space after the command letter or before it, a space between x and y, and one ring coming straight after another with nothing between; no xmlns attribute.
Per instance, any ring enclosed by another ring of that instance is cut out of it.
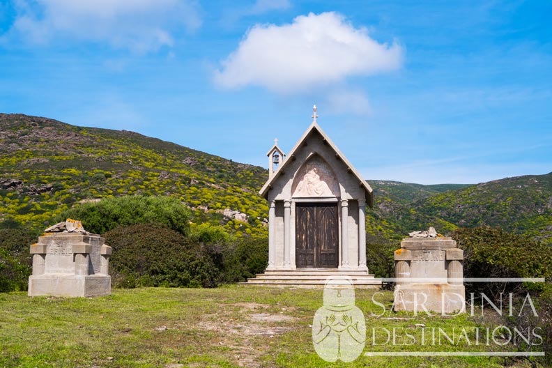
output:
<svg viewBox="0 0 552 368"><path fill-rule="evenodd" d="M318 125L318 123L316 123L316 121L312 122L312 124L305 131L305 133L303 133L302 137L298 140L296 145L291 149L291 152L289 153L289 157L291 158L299 150L299 148L301 147L303 142L307 139L307 137L309 137L309 135L314 130L316 130L316 132L319 132L319 134L322 136L322 138L325 140L325 142L328 144L328 146L330 146L332 148L332 150L335 151L335 154L338 155L339 158L344 162L346 167L348 169L350 169L351 174L353 174L358 179L359 184L362 187L364 187L364 189L367 193L367 196L366 196L367 203L371 207L373 205L372 192L374 192L374 191L372 190L370 185L362 178L362 176L359 174L359 172L353 167L351 162L349 162L347 160L345 155L341 151L339 151L339 148L337 148L337 146L334 144L334 142L332 142L330 137L328 137L328 135L325 134L325 132L322 130L322 128L320 128L320 125ZM270 154L270 152L272 152L273 148L271 148L271 150L269 151L269 154ZM268 179L268 181L265 183L265 185L263 185L263 187L259 191L259 194L261 194L261 196L263 196L265 198L267 197L269 188L277 180L277 178L279 176L279 173L283 172L285 170L285 168L290 164L290 162L293 162L293 160L285 160L284 163L278 167L278 169L274 172L274 175L271 178Z"/></svg>

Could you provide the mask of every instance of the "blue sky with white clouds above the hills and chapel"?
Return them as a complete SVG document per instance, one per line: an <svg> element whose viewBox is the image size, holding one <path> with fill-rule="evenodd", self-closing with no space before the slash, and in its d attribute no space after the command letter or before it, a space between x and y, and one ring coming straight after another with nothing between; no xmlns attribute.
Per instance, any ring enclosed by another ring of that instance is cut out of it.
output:
<svg viewBox="0 0 552 368"><path fill-rule="evenodd" d="M552 171L551 1L0 1L0 112L266 166L319 124L367 179Z"/></svg>

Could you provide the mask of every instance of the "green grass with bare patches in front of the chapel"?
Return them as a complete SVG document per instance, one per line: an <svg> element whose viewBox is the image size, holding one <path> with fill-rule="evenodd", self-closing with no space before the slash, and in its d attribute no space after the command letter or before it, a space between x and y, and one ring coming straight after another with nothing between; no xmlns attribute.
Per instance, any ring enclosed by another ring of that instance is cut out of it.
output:
<svg viewBox="0 0 552 368"><path fill-rule="evenodd" d="M390 291L357 290L368 328L475 327L477 317L387 312ZM330 364L316 355L312 319L322 290L227 286L116 289L99 298L0 293L0 367L528 367L486 357L369 357ZM369 332L368 335L371 335ZM371 338L368 336L369 339ZM470 336L471 338L472 336ZM397 342L400 342L400 337ZM484 351L489 346L373 346L369 351ZM501 351L504 351L501 348Z"/></svg>

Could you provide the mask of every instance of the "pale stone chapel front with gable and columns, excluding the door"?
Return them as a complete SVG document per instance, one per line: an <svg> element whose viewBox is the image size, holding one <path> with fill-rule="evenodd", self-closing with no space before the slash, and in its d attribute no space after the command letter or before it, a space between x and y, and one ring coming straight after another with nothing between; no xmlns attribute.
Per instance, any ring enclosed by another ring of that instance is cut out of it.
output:
<svg viewBox="0 0 552 368"><path fill-rule="evenodd" d="M371 187L316 121L270 176L260 194L269 202L268 271L302 268L296 263L296 209L329 204L335 205L338 217L339 259L335 270L367 273L365 211L372 204Z"/></svg>

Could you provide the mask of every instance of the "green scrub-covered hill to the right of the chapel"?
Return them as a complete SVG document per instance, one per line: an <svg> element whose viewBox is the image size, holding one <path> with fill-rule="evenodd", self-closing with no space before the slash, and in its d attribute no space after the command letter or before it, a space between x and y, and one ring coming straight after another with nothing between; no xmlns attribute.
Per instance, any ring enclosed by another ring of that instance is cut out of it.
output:
<svg viewBox="0 0 552 368"><path fill-rule="evenodd" d="M434 226L500 227L552 244L552 173L505 178L477 185L417 185L371 181L376 208L371 233L400 238Z"/></svg>

